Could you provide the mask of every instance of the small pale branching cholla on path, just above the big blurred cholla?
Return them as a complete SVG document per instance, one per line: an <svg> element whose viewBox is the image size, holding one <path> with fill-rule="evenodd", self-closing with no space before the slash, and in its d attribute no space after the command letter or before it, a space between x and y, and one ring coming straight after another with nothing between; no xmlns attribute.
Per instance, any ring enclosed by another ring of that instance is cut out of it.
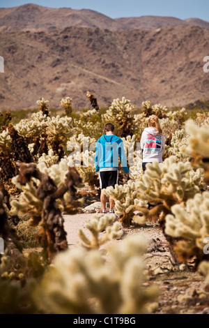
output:
<svg viewBox="0 0 209 328"><path fill-rule="evenodd" d="M91 232L91 239L86 237L86 234L82 229L79 229L79 237L81 244L86 249L100 248L104 243L112 239L120 239L123 235L121 230L121 224L118 222L114 223L116 216L106 214L104 216L93 215L91 221L86 221L85 228ZM113 224L114 223L114 224ZM100 235L100 232L105 233Z"/></svg>

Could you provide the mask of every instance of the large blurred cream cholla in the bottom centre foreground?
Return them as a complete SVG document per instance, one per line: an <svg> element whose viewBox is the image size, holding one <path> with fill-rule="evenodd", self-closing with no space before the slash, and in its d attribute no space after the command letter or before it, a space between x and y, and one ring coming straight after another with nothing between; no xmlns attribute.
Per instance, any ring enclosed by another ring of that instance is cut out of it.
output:
<svg viewBox="0 0 209 328"><path fill-rule="evenodd" d="M100 251L77 247L57 255L34 289L39 308L71 314L148 312L148 302L155 299L157 290L142 285L144 239L132 236L108 249L107 262Z"/></svg>

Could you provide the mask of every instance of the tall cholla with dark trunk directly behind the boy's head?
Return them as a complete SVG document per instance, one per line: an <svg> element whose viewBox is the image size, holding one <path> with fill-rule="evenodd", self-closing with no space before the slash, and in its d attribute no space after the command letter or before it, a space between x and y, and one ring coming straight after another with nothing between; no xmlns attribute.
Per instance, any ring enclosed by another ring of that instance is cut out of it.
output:
<svg viewBox="0 0 209 328"><path fill-rule="evenodd" d="M134 107L130 100L125 99L125 97L121 101L114 99L109 110L104 114L105 121L114 121L120 137L132 135L134 132L134 117L132 115Z"/></svg>

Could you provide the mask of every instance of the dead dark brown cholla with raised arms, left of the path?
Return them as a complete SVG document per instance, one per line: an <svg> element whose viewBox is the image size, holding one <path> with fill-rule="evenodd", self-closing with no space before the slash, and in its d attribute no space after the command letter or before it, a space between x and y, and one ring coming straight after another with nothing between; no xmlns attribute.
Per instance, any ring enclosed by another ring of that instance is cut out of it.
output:
<svg viewBox="0 0 209 328"><path fill-rule="evenodd" d="M54 253L68 248L66 232L63 228L63 217L56 199L61 198L64 202L63 196L69 191L69 201L72 202L76 192L75 186L81 183L81 178L75 170L75 167L69 167L64 184L61 184L61 186L57 188L52 178L36 169L35 163L21 163L17 182L21 185L25 185L27 182L31 181L31 177L40 180L40 184L36 190L36 196L42 202L41 217L38 218L37 216L31 223L37 225L41 221L42 229L38 234L38 238L41 244L47 248L47 255L49 258L52 259Z"/></svg>

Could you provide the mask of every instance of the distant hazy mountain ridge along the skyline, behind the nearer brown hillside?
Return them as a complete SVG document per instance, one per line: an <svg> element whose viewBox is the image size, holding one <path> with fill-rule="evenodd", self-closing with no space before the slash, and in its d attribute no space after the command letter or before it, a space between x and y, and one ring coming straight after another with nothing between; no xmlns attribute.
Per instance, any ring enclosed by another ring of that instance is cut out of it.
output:
<svg viewBox="0 0 209 328"><path fill-rule="evenodd" d="M157 29L167 26L199 26L209 29L209 22L198 18L141 16L111 19L94 10L47 8L28 3L13 8L0 8L0 31L50 31L65 27L98 27L99 29Z"/></svg>

